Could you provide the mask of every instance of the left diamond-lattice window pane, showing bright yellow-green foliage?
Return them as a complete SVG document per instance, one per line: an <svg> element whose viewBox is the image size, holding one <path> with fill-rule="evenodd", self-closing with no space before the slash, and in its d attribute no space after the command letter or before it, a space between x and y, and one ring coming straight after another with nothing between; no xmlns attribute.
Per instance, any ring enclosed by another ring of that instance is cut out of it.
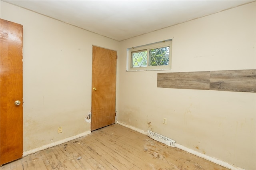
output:
<svg viewBox="0 0 256 170"><path fill-rule="evenodd" d="M132 68L147 67L147 51L132 52Z"/></svg>

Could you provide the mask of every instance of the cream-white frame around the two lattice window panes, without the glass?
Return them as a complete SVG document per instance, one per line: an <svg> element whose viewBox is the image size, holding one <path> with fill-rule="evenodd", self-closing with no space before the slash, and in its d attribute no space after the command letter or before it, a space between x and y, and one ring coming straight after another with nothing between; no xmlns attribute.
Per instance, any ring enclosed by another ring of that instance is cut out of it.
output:
<svg viewBox="0 0 256 170"><path fill-rule="evenodd" d="M149 50L156 49L161 47L169 46L169 65L158 65L158 66L149 66ZM147 50L147 67L134 67L132 68L132 52ZM171 61L172 61L172 39L165 40L157 43L151 43L147 45L142 45L138 47L132 47L127 49L127 69L126 71L152 71L152 70L170 70L171 69Z"/></svg>

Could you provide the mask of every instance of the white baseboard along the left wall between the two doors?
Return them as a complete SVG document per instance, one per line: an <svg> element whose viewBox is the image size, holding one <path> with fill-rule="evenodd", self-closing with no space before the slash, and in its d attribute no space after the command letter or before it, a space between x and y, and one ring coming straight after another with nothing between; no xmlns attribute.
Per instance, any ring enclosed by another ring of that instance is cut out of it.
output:
<svg viewBox="0 0 256 170"><path fill-rule="evenodd" d="M34 148L34 149L31 149L31 150L26 150L26 151L23 151L23 156L27 156L27 155L30 155L30 154L33 154L33 153L36 153L40 150L44 150L44 149L47 149L47 148L51 148L53 146L57 146L58 144L62 144L62 143L65 143L65 142L68 142L70 140L74 140L76 138L80 138L82 136L86 136L88 134L90 134L91 131L86 131L86 132L83 132L83 133L80 133L80 134L77 134L75 136L70 136L68 138L65 138L65 139L62 139L62 140L58 140L56 142L52 142L52 143L49 143L49 144L46 144L46 145L43 145L43 146L40 146L40 147L37 147L37 148Z"/></svg>

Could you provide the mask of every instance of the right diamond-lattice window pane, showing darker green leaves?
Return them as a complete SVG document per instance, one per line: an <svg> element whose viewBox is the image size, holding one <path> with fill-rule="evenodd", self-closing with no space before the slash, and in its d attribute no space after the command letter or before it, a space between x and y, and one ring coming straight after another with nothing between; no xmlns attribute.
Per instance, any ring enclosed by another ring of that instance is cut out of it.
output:
<svg viewBox="0 0 256 170"><path fill-rule="evenodd" d="M161 47L149 50L149 66L169 65L170 47Z"/></svg>

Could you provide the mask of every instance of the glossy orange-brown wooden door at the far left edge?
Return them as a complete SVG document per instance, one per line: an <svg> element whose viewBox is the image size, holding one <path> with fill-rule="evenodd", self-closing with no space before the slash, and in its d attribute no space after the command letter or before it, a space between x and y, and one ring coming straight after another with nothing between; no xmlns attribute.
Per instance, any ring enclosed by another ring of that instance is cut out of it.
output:
<svg viewBox="0 0 256 170"><path fill-rule="evenodd" d="M22 157L22 34L20 24L0 19L0 163ZM16 103L15 101L20 101Z"/></svg>

